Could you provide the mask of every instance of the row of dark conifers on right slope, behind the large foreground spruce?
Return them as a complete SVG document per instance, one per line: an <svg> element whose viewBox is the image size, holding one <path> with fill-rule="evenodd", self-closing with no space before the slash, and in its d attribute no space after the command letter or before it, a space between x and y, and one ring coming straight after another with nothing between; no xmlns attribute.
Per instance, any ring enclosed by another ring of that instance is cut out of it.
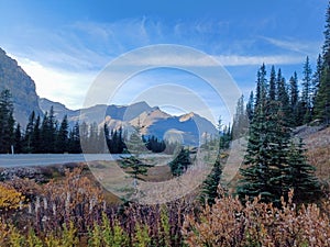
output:
<svg viewBox="0 0 330 247"><path fill-rule="evenodd" d="M237 111L233 119L233 138L241 137L248 133L249 123L252 122L255 106L261 100L262 79L267 83L267 97L270 101L276 101L282 105L283 114L286 116L286 124L289 127L297 127L304 124L330 124L330 67L324 58L319 55L316 70L312 72L309 57L302 67L302 78L299 81L297 72L287 81L280 68L276 71L275 66L271 67L270 77L265 78L267 71L263 67L257 71L256 91L251 91L248 103L244 103L242 96L238 100Z"/></svg>

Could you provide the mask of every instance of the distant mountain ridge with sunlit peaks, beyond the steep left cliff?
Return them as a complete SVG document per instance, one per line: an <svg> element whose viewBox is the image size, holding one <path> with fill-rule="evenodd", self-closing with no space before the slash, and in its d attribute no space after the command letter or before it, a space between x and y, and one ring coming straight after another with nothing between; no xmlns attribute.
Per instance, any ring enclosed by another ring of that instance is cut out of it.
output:
<svg viewBox="0 0 330 247"><path fill-rule="evenodd" d="M106 123L111 130L123 127L128 132L131 132L133 126L140 126L142 134L146 136L154 135L161 139L166 138L187 145L199 145L206 135L215 136L218 133L210 121L196 113L173 116L157 106L150 106L146 102L131 105L98 104L77 111L46 99L41 99L40 105L43 111L50 111L53 105L57 120L67 114L70 126L78 120L86 123L96 122L100 127Z"/></svg>

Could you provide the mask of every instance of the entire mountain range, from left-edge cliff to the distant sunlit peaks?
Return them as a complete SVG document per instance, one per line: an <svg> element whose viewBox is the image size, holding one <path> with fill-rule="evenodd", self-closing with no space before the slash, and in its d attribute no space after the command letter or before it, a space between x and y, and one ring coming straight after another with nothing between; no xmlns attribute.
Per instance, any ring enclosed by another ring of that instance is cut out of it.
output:
<svg viewBox="0 0 330 247"><path fill-rule="evenodd" d="M40 98L33 79L0 48L0 90L9 89L14 104L14 119L25 127L32 111L43 116L53 106L56 119L61 122L65 115L69 125L76 122L94 123L100 127L107 124L110 130L123 127L132 130L140 126L144 135L198 145L206 135L217 135L215 125L207 119L190 112L175 116L146 102L131 105L98 104L87 109L70 110L61 102Z"/></svg>

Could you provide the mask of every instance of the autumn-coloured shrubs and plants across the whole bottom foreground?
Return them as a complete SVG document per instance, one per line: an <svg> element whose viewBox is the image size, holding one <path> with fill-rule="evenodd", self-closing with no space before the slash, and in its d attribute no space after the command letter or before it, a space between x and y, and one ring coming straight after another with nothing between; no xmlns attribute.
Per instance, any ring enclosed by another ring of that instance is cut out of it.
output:
<svg viewBox="0 0 330 247"><path fill-rule="evenodd" d="M220 189L220 188L219 188ZM44 186L0 183L0 246L328 246L330 201L241 203L221 189L164 205L109 204L81 168Z"/></svg>

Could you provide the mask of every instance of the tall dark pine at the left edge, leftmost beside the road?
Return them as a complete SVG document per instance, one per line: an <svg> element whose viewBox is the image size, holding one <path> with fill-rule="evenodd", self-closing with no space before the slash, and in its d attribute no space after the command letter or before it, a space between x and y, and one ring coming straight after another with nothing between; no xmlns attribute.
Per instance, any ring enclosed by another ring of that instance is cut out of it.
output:
<svg viewBox="0 0 330 247"><path fill-rule="evenodd" d="M4 89L0 93L0 154L11 153L14 123L12 96Z"/></svg>

